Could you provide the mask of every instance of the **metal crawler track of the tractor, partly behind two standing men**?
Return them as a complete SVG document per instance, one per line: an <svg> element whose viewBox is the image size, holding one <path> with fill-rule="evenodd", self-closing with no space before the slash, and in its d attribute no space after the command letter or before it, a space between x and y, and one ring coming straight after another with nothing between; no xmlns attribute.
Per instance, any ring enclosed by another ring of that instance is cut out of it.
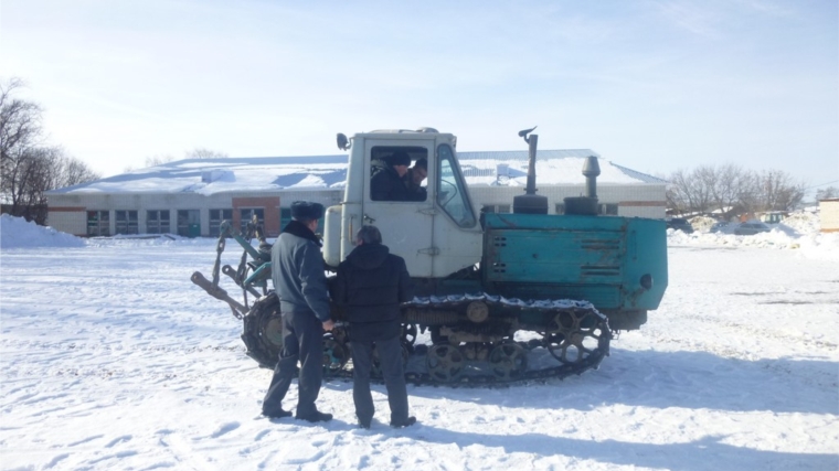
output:
<svg viewBox="0 0 839 471"><path fill-rule="evenodd" d="M517 311L528 310L541 313L546 319L553 319L545 325L535 330L542 334L541 342L512 342L507 340L495 344L495 347L503 347L501 357L493 364L488 362L466 362L459 354L463 346L446 345L443 349L444 363L447 366L440 371L428 371L428 354L434 352L436 345L414 345L413 339L403 345L406 350L407 361L412 364L426 365L426 371L406 370L406 382L414 385L434 385L448 387L498 387L512 384L545 382L549 379L562 379L572 375L580 375L588 370L596 370L601 362L608 356L612 332L608 321L591 303L586 301L571 300L541 300L522 301L519 299L505 299L502 297L486 293L453 297L415 298L413 301L402 304L403 318L412 310L424 312L459 312L464 311L469 303L486 303L495 311L508 312L511 317ZM279 310L276 297L266 296L254 302L251 311L243 319L243 334L247 352L261 366L273 368L276 364L282 347L280 334L277 331L279 324ZM416 325L405 324L416 332ZM532 329L531 329L532 330ZM585 342L585 343L584 343ZM325 377L327 378L352 378L352 368L349 360L349 345L342 333L328 333L325 342ZM505 357L505 349L509 351L509 357ZM529 370L520 355L528 355L537 350L548 351L559 361L554 366ZM423 354L414 354L425 351ZM439 351L439 349L438 349ZM576 355L571 355L573 351ZM573 356L573 357L572 357ZM459 357L459 362L457 361ZM452 365L452 363L455 363ZM465 367L465 364L477 364L477 368ZM518 366L517 366L518 365ZM446 370L452 368L452 370ZM453 372L456 370L456 372ZM375 371L373 372L375 373Z"/></svg>

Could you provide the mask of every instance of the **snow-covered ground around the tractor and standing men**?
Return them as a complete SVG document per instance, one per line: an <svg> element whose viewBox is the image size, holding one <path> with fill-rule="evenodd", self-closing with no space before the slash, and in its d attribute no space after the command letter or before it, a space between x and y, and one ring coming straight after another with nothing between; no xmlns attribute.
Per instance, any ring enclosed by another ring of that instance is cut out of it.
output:
<svg viewBox="0 0 839 471"><path fill-rule="evenodd" d="M360 430L342 381L321 390L331 422L258 417L270 372L189 280L214 240L82 240L2 216L0 469L837 470L839 234L817 223L671 232L660 309L598 371L408 386L420 424L400 430L376 385Z"/></svg>

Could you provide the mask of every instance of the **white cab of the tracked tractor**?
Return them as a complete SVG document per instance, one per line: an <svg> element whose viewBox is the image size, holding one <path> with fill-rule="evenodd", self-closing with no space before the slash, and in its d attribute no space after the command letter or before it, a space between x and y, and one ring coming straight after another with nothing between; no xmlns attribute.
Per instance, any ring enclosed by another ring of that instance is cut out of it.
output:
<svg viewBox="0 0 839 471"><path fill-rule="evenodd" d="M443 278L480 261L482 232L455 157L456 141L454 135L431 128L362 132L349 141L338 135L339 148L351 150L343 202L327 210L327 265L337 267L352 251L363 224L381 231L382 243L405 259L414 278ZM411 156L412 164L427 160L425 201L371 197L373 161L400 151Z"/></svg>

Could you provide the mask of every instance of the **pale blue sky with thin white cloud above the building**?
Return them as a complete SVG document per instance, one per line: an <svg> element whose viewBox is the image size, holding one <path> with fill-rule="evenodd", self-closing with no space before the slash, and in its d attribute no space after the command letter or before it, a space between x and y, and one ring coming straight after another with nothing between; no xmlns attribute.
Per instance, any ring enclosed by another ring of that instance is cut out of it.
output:
<svg viewBox="0 0 839 471"><path fill-rule="evenodd" d="M839 180L838 3L2 0L0 78L105 175L383 128L525 149L539 125L541 149L651 174L737 162L818 185Z"/></svg>

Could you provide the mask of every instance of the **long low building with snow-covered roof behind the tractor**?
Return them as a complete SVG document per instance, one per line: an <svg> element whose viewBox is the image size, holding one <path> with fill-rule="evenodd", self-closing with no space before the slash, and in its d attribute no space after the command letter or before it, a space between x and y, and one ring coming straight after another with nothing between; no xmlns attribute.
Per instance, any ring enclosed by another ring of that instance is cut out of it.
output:
<svg viewBox="0 0 839 471"><path fill-rule="evenodd" d="M540 150L537 186L549 211L585 192L583 163L598 158L602 214L663 218L665 180L612 163L587 149ZM510 212L527 184L528 152L458 152L476 212ZM52 227L78 236L217 236L221 222L244 227L256 215L268 237L290 218L291 202L341 202L348 156L188 159L47 192Z"/></svg>

